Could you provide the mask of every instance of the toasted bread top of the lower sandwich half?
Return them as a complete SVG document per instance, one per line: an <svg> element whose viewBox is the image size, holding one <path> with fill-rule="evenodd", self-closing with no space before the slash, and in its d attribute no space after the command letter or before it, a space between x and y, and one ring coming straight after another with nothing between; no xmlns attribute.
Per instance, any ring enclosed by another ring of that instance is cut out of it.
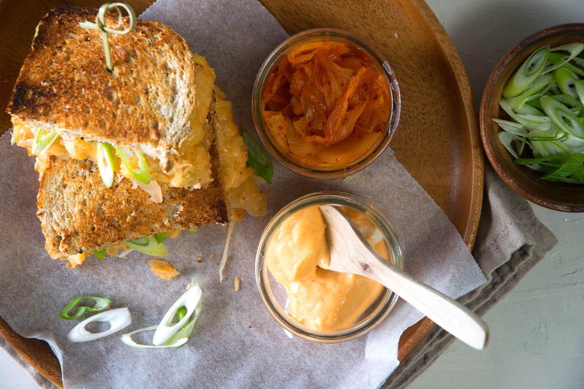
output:
<svg viewBox="0 0 584 389"><path fill-rule="evenodd" d="M161 184L163 200L155 204L121 176L111 188L104 188L98 166L89 159L50 157L44 166L37 216L51 255L90 253L174 229L228 223L223 189L218 184L199 190Z"/></svg>

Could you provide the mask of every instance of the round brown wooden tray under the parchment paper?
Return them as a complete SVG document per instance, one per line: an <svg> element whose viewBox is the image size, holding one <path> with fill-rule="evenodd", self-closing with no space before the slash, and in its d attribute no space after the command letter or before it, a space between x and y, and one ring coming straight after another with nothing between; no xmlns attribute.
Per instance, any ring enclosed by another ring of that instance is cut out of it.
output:
<svg viewBox="0 0 584 389"><path fill-rule="evenodd" d="M0 107L8 104L34 27L60 5L97 7L103 0L0 0ZM150 0L127 0L139 15ZM484 162L475 104L463 64L423 0L262 0L293 34L338 27L371 41L397 73L402 93L399 127L391 142L398 159L444 209L469 249L481 215ZM10 127L4 112L0 133ZM259 300L258 300L259 301ZM425 318L401 337L399 359L415 349L434 324ZM46 342L15 334L0 319L0 334L43 376L62 387L61 369Z"/></svg>

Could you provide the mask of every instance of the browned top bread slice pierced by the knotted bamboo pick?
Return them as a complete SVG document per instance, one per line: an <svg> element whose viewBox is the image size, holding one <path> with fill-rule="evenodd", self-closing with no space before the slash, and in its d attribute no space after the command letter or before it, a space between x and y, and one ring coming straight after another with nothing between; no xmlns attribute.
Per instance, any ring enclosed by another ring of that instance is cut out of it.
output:
<svg viewBox="0 0 584 389"><path fill-rule="evenodd" d="M62 7L47 13L6 111L15 123L65 139L141 151L168 171L190 131L195 102L189 45L170 27L138 19L130 33L109 35L109 72L100 33L78 24L95 22L96 12ZM116 25L116 14L109 13L106 22Z"/></svg>

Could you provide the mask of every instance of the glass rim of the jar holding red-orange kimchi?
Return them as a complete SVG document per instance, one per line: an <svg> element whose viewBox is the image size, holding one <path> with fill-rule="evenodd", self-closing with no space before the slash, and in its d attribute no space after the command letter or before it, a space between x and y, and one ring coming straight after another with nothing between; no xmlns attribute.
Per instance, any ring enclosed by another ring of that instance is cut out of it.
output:
<svg viewBox="0 0 584 389"><path fill-rule="evenodd" d="M312 39L312 38L319 38L319 37L329 37L329 38L337 38L342 40L347 40L350 43L357 45L357 47L363 49L373 58L380 69L384 72L385 79L390 87L390 95L391 95L391 115L390 119L387 122L387 126L383 131L383 138L380 142L378 142L377 146L369 150L366 155L364 155L361 159L356 160L349 164L349 166L343 167L342 169L335 169L335 170L322 170L316 169L312 167L304 166L300 163L295 162L290 157L286 156L283 152L281 152L276 145L273 144L270 135L267 133L265 128L265 123L263 121L263 115L261 113L261 99L262 99L262 91L269 76L270 72L273 69L273 66L277 64L281 56L288 50L288 48L292 47L295 44L300 43L301 41ZM363 169L366 166L369 166L378 156L383 153L385 148L389 145L391 138L395 134L395 130L399 124L399 117L401 115L401 93L399 92L399 85L397 78L395 76L394 69L391 67L387 59L381 54L381 52L371 45L369 42L357 36L356 34L350 33L349 31L340 30L340 29L332 29L332 28L318 28L318 29L311 29L305 30L298 34L294 34L293 36L287 38L282 43L280 43L270 54L266 57L265 61L263 62L262 66L258 71L258 75L256 76L255 82L253 84L253 92L252 92L252 117L253 117L253 124L256 127L256 131L258 131L258 135L260 141L263 143L264 147L269 151L269 153L280 163L286 166L288 169L296 171L296 173L302 174L303 176L312 177L312 178L325 178L325 179L332 179L332 178L343 178L346 176L350 176L351 174L356 173L357 171Z"/></svg>

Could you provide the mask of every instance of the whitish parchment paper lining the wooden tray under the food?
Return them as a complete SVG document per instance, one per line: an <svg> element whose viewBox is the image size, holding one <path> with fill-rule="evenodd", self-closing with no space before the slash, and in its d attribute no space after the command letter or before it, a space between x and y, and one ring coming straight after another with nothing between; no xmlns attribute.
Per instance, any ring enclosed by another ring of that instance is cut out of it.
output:
<svg viewBox="0 0 584 389"><path fill-rule="evenodd" d="M159 0L142 17L168 24L193 51L207 57L234 105L238 124L253 132L253 79L266 55L286 38L269 12L256 0ZM218 282L217 262L226 229L220 226L168 242L168 260L182 272L172 281L152 274L147 255L140 253L127 259L91 258L72 271L44 251L35 216L33 158L9 146L9 135L2 136L0 316L19 334L50 343L61 361L66 388L378 387L398 365L399 336L421 313L400 300L367 337L315 344L287 338L255 286L256 246L270 216L294 198L318 190L348 191L376 204L397 230L406 270L421 281L451 297L485 282L454 226L390 149L349 183L303 178L274 164L273 183L263 189L269 215L237 224L223 283ZM158 324L193 275L203 288L203 312L192 338L180 349L130 348L121 343L120 334L82 344L65 338L78 321L61 320L57 313L71 297L107 296L112 307L127 306L133 318L126 329L130 331ZM235 275L242 281L239 292L233 288Z"/></svg>

